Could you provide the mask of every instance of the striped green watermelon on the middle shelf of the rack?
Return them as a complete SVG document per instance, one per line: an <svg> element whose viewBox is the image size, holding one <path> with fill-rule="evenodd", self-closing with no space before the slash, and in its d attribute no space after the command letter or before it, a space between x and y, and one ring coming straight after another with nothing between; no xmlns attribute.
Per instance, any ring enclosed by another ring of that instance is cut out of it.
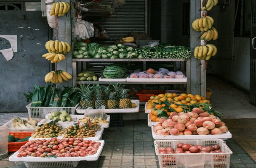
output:
<svg viewBox="0 0 256 168"><path fill-rule="evenodd" d="M103 70L103 76L108 79L119 79L123 78L127 72L124 66L108 66Z"/></svg>

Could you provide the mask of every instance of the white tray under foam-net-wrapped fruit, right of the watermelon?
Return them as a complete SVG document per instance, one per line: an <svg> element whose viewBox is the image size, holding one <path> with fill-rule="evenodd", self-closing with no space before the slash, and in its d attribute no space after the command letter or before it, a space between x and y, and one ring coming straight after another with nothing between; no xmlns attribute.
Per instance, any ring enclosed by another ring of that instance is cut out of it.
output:
<svg viewBox="0 0 256 168"><path fill-rule="evenodd" d="M179 82L179 83L186 83L187 78L185 79L177 79L177 78L172 78L172 79L166 79L166 78L130 78L129 76L126 78L126 80L129 82Z"/></svg>

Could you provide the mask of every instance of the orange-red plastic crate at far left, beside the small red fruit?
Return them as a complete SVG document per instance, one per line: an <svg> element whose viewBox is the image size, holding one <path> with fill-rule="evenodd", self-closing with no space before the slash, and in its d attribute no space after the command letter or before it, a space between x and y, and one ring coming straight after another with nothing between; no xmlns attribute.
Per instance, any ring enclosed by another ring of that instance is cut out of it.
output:
<svg viewBox="0 0 256 168"><path fill-rule="evenodd" d="M31 136L33 132L9 132L9 135L14 136L15 138L25 138L27 136ZM8 152L16 152L18 151L22 145L27 144L28 141L25 142L8 142Z"/></svg>

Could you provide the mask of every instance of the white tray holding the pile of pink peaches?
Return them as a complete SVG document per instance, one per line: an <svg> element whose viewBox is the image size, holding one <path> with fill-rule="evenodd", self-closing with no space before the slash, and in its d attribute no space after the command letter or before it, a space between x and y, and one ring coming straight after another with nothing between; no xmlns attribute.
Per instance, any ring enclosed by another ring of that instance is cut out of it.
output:
<svg viewBox="0 0 256 168"><path fill-rule="evenodd" d="M171 140L180 140L180 139L229 139L232 138L232 134L227 131L220 135L156 135L154 131L154 126L151 126L152 136L154 139L171 139Z"/></svg>

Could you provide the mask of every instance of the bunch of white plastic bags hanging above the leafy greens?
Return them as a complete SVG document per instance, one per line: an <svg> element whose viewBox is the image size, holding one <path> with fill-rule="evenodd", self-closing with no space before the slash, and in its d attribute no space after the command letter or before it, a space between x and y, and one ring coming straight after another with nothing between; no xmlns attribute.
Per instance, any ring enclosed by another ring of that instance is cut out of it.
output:
<svg viewBox="0 0 256 168"><path fill-rule="evenodd" d="M86 39L86 38L89 39L90 37L93 37L94 35L93 32L94 32L94 28L92 23L88 21L84 21L80 18L77 18L77 21L75 23L75 31L74 31L74 35L77 40Z"/></svg>

